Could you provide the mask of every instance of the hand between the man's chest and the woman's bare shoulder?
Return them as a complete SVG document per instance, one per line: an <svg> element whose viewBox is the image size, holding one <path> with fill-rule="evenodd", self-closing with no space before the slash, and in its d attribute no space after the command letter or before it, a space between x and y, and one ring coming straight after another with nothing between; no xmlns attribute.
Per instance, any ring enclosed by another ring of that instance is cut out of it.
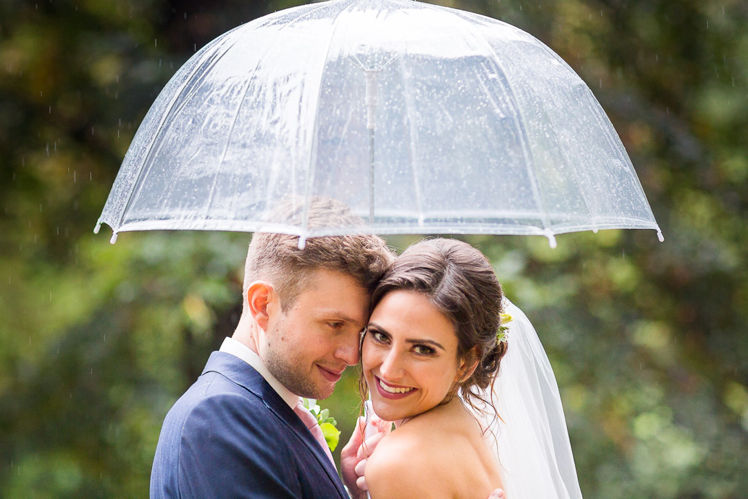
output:
<svg viewBox="0 0 748 499"><path fill-rule="evenodd" d="M376 419L381 422L378 417ZM364 479L364 470L367 458L372 455L379 441L384 438L384 435L389 433L389 431L386 431L387 425L383 423L375 424L378 431L364 441L366 424L365 417L361 416L358 418L351 439L346 444L346 447L343 447L343 450L340 451L340 471L343 475L343 483L346 484L351 497L354 499L366 498L368 487Z"/></svg>

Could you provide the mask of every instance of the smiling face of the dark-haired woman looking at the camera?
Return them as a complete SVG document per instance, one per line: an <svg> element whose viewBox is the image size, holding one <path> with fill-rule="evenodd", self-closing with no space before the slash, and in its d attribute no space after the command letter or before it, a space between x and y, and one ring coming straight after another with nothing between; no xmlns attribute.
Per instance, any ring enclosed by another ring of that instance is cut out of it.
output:
<svg viewBox="0 0 748 499"><path fill-rule="evenodd" d="M435 407L465 372L455 328L423 293L393 291L375 307L361 350L376 414L395 421Z"/></svg>

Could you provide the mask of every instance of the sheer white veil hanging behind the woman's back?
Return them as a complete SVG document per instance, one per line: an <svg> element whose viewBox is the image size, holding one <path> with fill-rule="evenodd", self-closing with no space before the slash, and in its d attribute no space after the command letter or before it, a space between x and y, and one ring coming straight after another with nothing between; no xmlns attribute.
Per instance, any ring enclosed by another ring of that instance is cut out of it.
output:
<svg viewBox="0 0 748 499"><path fill-rule="evenodd" d="M494 383L493 402L500 419L479 416L489 447L500 463L508 499L582 497L571 455L556 377L538 334L522 310L504 299L512 316L506 355ZM491 394L482 394L491 400Z"/></svg>

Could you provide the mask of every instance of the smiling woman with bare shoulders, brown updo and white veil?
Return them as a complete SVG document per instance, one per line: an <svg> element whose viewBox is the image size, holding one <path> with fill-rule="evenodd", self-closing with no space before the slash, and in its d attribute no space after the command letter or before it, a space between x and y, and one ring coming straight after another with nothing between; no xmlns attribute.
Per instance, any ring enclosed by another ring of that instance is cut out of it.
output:
<svg viewBox="0 0 748 499"><path fill-rule="evenodd" d="M483 254L452 239L417 243L373 304L363 378L396 430L365 464L372 498L485 499L497 488L581 498L548 358Z"/></svg>

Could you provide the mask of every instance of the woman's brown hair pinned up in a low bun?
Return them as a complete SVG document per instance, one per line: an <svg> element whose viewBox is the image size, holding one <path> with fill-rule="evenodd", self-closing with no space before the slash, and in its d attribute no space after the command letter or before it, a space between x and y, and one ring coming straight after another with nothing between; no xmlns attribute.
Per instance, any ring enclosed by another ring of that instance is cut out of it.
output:
<svg viewBox="0 0 748 499"><path fill-rule="evenodd" d="M399 290L423 293L450 319L458 358L468 365L477 361L457 389L473 409L483 405L480 410L485 410L490 405L495 413L492 401L481 392L492 385L507 345L496 339L503 291L488 258L466 242L426 239L406 249L387 269L374 289L372 310L387 293ZM367 393L364 376L360 376L360 388L362 396Z"/></svg>

